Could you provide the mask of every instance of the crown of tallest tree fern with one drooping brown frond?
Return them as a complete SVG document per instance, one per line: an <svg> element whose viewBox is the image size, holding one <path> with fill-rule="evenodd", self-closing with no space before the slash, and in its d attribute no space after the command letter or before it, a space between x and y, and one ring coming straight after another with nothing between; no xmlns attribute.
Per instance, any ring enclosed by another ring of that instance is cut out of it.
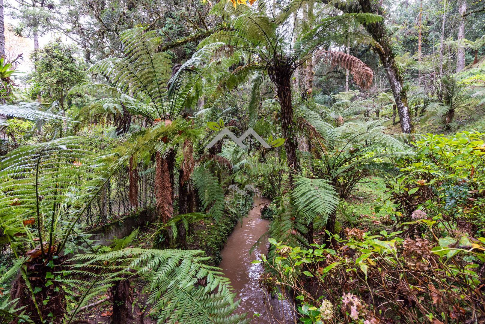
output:
<svg viewBox="0 0 485 324"><path fill-rule="evenodd" d="M313 2L312 2L313 3ZM301 14L307 1L293 0L287 5L272 5L269 1L258 1L258 5L232 6L220 1L211 13L222 15L231 21L230 28L216 32L199 44L203 49L209 44L223 43L231 49L242 50L248 63L234 73L247 73L254 69L289 68L291 73L299 64L315 57L316 63L322 59L328 64L350 68L356 82L370 85L372 70L356 57L333 51L324 51L330 42L343 43L347 33L342 33L343 24L348 20L375 22L381 19L373 14L344 14L326 16L325 6L316 8L312 17L295 28L295 17ZM353 33L354 38L367 39L365 35ZM256 60L256 62L254 62Z"/></svg>

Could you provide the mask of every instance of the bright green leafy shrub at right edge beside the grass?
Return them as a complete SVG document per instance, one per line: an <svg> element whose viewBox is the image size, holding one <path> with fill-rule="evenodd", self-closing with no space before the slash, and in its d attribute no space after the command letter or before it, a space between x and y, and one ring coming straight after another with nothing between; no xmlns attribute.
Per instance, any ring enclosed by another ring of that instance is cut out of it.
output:
<svg viewBox="0 0 485 324"><path fill-rule="evenodd" d="M398 159L401 172L388 178L402 221L417 209L469 234L482 233L485 194L484 133L462 132L454 136L423 136L413 143L414 155Z"/></svg>

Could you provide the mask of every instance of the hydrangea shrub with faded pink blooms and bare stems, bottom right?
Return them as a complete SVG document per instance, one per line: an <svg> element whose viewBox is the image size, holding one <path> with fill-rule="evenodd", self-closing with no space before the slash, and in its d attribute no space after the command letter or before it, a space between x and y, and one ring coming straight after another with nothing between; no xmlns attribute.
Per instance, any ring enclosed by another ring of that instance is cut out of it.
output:
<svg viewBox="0 0 485 324"><path fill-rule="evenodd" d="M417 222L426 224L426 239L402 239L401 231L370 235L356 228L347 229L346 238L334 235L328 248L302 249L269 239L276 253L261 259L276 275L264 283L269 290L295 291L304 323L483 319L485 238L456 233L438 239L436 222Z"/></svg>

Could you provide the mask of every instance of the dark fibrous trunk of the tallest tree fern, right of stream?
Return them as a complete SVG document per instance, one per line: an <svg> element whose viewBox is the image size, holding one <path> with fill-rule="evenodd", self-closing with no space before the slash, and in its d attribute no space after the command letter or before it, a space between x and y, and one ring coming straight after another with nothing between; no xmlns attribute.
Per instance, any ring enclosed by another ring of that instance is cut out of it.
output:
<svg viewBox="0 0 485 324"><path fill-rule="evenodd" d="M281 105L281 130L285 138L286 160L288 163L290 187L293 188L293 175L296 173L296 134L293 124L293 104L291 103L291 66L280 63L280 66L271 68L268 72L271 81L275 84L276 94Z"/></svg>

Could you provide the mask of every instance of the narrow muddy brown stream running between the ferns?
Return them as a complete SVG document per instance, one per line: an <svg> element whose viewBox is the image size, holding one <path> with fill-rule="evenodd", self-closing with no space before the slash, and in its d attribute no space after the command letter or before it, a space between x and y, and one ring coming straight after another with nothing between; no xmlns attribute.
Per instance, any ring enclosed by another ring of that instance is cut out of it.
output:
<svg viewBox="0 0 485 324"><path fill-rule="evenodd" d="M252 264L253 260L260 260L261 250L266 254L268 240L265 238L252 254L251 247L268 230L269 221L260 219L259 209L269 204L266 198L254 197L253 208L248 217L238 222L227 239L222 250L222 261L219 267L223 269L231 285L237 291L237 298L241 299L238 312L247 312L252 318L251 323L293 323L291 306L286 300L265 297L259 288L259 275L263 268L261 264ZM259 317L254 314L260 314Z"/></svg>

